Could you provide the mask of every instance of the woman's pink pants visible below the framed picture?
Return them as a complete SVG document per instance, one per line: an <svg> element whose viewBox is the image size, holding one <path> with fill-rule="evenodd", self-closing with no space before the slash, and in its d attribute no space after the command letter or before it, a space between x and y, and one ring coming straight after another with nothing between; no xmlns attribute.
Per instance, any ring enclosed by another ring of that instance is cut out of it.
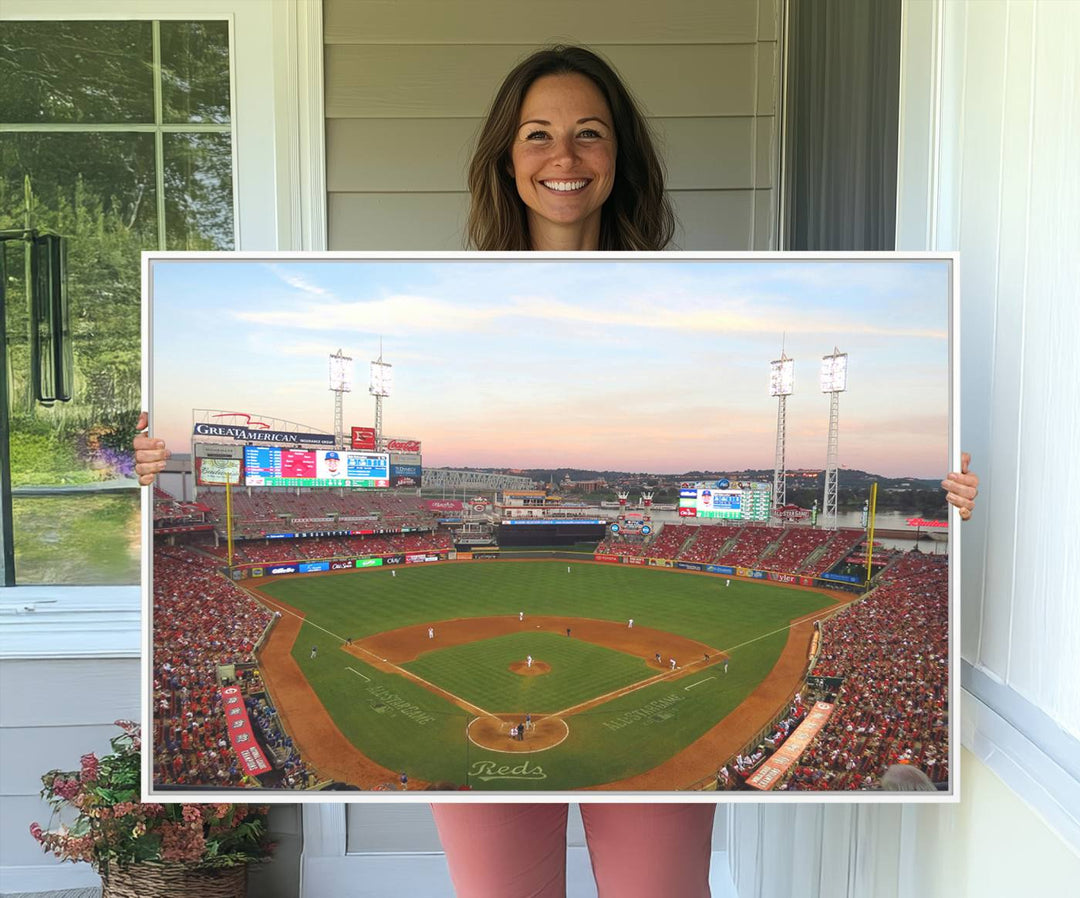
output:
<svg viewBox="0 0 1080 898"><path fill-rule="evenodd" d="M565 804L432 805L458 898L564 898ZM582 804L599 898L708 898L713 804Z"/></svg>

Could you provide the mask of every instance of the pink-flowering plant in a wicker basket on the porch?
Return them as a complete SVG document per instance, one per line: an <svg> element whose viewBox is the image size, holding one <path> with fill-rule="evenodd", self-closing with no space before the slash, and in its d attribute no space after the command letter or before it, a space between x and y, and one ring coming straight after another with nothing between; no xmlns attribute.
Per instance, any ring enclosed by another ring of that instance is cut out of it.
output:
<svg viewBox="0 0 1080 898"><path fill-rule="evenodd" d="M84 754L79 770L41 777L53 817L49 830L32 823L30 834L60 860L93 865L103 898L243 898L247 865L273 850L269 808L144 804L138 724L117 726L111 754Z"/></svg>

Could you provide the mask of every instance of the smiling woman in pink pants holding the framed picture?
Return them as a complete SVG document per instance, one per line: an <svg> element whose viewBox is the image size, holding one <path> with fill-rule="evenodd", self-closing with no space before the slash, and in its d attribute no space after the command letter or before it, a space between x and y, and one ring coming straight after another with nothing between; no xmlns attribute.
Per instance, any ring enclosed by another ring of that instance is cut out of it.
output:
<svg viewBox="0 0 1080 898"><path fill-rule="evenodd" d="M507 77L469 169L469 241L477 250L663 250L674 216L645 119L615 71L582 48L532 54ZM139 429L146 427L146 416ZM139 482L168 452L135 440ZM943 486L968 518L977 478ZM436 804L461 898L565 895L566 804ZM600 898L708 896L715 805L582 804Z"/></svg>

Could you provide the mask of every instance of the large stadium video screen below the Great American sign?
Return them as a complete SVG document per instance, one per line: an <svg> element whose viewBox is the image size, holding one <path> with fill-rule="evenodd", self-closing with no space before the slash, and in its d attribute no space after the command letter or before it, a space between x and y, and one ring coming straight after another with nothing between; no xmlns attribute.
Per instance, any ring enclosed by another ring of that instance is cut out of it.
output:
<svg viewBox="0 0 1080 898"><path fill-rule="evenodd" d="M287 450L244 446L244 480L249 486L390 485L390 455L351 450Z"/></svg>

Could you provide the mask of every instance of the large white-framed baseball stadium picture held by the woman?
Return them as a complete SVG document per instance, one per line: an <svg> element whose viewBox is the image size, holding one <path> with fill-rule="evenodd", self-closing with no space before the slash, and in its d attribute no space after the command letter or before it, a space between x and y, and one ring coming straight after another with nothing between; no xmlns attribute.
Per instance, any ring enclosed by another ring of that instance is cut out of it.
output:
<svg viewBox="0 0 1080 898"><path fill-rule="evenodd" d="M150 794L951 794L954 277L149 255Z"/></svg>

